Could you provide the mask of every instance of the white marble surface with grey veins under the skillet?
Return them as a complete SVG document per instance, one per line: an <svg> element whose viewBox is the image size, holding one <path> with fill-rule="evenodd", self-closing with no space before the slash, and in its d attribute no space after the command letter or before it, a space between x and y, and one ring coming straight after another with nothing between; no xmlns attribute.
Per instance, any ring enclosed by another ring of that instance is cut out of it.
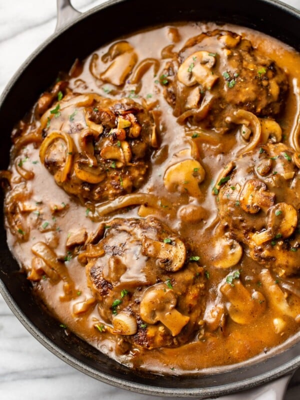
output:
<svg viewBox="0 0 300 400"><path fill-rule="evenodd" d="M73 0L80 11L102 0ZM300 8L300 0L288 0ZM0 93L27 56L54 30L55 0L0 0ZM300 371L284 400L299 400ZM45 349L12 314L0 295L0 400L149 400L95 380ZM262 398L263 400L263 398Z"/></svg>

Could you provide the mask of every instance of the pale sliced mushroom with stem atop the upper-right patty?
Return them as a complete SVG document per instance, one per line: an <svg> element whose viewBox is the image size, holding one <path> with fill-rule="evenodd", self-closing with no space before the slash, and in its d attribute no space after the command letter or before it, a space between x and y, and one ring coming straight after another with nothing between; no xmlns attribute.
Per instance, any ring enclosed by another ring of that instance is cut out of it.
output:
<svg viewBox="0 0 300 400"><path fill-rule="evenodd" d="M218 76L211 73L215 57L208 51L196 51L187 57L179 66L177 77L185 86L198 83L205 89L210 89Z"/></svg>

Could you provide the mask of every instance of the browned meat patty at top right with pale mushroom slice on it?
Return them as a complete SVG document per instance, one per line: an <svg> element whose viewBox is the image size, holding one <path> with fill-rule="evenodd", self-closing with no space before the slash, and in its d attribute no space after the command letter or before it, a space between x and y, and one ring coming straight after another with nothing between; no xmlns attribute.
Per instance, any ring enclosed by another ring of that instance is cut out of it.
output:
<svg viewBox="0 0 300 400"><path fill-rule="evenodd" d="M190 38L165 66L160 82L179 122L219 132L242 108L275 116L288 89L285 72L237 33L216 29Z"/></svg>

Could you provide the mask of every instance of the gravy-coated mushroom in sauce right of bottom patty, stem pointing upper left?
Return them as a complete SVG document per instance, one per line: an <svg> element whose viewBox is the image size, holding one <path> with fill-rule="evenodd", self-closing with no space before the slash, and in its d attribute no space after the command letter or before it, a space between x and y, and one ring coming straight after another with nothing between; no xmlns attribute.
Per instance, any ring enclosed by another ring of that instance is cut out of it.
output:
<svg viewBox="0 0 300 400"><path fill-rule="evenodd" d="M226 278L226 283L220 287L221 293L229 301L226 304L229 316L236 323L248 324L264 312L265 298L259 291L250 294L240 280L232 281L228 279L229 276ZM228 283L228 280L232 283Z"/></svg>

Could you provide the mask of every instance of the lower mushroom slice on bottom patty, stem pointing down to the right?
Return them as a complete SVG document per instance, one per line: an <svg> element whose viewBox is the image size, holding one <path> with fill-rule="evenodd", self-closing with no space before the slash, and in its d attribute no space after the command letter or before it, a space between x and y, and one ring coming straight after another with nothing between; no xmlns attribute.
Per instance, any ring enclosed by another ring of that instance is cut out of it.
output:
<svg viewBox="0 0 300 400"><path fill-rule="evenodd" d="M176 302L174 291L166 284L150 286L144 291L140 301L140 317L150 324L160 321L171 331L172 336L176 336L189 321L188 316L175 309Z"/></svg>

